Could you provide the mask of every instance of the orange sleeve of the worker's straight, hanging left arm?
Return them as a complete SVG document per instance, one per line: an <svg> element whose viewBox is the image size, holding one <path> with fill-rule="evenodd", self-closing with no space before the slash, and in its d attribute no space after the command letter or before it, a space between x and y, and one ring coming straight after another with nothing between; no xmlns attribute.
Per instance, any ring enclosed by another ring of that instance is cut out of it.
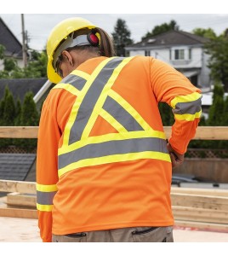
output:
<svg viewBox="0 0 228 256"><path fill-rule="evenodd" d="M60 129L50 101L43 103L37 141L37 211L40 236L52 241L52 208L58 182Z"/></svg>

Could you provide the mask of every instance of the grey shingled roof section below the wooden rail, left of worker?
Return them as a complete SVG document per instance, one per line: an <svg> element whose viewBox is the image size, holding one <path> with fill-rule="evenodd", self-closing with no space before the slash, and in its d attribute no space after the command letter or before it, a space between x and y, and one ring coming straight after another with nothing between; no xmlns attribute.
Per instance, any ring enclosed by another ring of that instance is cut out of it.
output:
<svg viewBox="0 0 228 256"><path fill-rule="evenodd" d="M36 154L0 154L0 179L25 181Z"/></svg>

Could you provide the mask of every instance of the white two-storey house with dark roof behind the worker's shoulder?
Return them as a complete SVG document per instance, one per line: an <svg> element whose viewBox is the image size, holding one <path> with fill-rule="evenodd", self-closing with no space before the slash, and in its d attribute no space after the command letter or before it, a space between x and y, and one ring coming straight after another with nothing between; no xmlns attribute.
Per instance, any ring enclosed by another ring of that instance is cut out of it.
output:
<svg viewBox="0 0 228 256"><path fill-rule="evenodd" d="M208 40L189 32L168 31L145 38L125 49L130 56L153 56L167 62L190 79L192 84L207 91L211 85L207 67L209 55L205 54L203 44Z"/></svg>

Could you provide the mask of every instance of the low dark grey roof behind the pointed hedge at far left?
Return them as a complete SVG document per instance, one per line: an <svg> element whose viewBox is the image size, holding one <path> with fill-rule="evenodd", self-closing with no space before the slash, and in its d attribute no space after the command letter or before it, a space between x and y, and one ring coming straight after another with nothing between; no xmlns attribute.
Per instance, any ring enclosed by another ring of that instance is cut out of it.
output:
<svg viewBox="0 0 228 256"><path fill-rule="evenodd" d="M20 102L23 102L26 92L31 90L35 96L37 92L42 88L43 84L47 81L46 78L41 79L0 79L0 100L4 96L5 87L8 86L9 90L14 96L14 100L20 98Z"/></svg>

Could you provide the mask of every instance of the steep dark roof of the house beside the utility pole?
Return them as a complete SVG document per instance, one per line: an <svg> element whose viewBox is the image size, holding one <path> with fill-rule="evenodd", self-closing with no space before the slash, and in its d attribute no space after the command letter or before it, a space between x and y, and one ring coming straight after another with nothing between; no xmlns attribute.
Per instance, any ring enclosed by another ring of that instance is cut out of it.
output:
<svg viewBox="0 0 228 256"><path fill-rule="evenodd" d="M0 17L0 44L6 48L5 54L8 56L22 57L22 45L19 40L14 36L13 32L4 23Z"/></svg>

